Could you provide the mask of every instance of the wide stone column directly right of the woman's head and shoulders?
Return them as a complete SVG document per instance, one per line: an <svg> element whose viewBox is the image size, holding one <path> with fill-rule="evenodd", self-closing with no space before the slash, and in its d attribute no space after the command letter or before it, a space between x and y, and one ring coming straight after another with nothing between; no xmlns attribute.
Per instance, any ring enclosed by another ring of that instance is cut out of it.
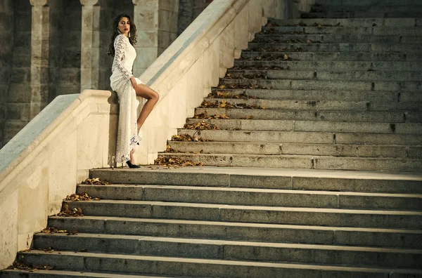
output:
<svg viewBox="0 0 422 278"><path fill-rule="evenodd" d="M138 29L134 76L139 77L177 38L179 0L132 0Z"/></svg>

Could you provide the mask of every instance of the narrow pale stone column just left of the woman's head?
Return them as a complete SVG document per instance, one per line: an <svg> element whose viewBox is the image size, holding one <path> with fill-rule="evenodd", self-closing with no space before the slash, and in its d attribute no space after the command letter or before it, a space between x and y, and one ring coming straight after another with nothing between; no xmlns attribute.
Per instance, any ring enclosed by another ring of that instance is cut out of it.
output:
<svg viewBox="0 0 422 278"><path fill-rule="evenodd" d="M82 4L81 92L98 89L100 77L100 1L80 0Z"/></svg>

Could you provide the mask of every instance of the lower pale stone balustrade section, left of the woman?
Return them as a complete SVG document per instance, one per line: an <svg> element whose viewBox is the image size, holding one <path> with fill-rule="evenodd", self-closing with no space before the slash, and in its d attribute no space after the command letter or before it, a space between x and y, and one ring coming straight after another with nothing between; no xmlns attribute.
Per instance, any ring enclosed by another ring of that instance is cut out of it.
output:
<svg viewBox="0 0 422 278"><path fill-rule="evenodd" d="M60 95L0 150L0 269L30 248L90 168L113 165L117 95Z"/></svg>

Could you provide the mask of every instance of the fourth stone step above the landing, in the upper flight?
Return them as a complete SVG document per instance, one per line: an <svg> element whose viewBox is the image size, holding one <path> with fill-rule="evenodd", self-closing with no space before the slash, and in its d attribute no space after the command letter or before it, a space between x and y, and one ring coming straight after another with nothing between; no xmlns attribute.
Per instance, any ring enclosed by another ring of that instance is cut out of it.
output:
<svg viewBox="0 0 422 278"><path fill-rule="evenodd" d="M346 112L344 112L346 113ZM357 113L357 112L355 112ZM389 124L380 122L344 122L330 119L327 121L298 121L277 119L186 119L186 124L200 122L215 125L219 130L229 131L298 131L333 133L396 133L422 135L422 124ZM210 128L213 130L212 128Z"/></svg>

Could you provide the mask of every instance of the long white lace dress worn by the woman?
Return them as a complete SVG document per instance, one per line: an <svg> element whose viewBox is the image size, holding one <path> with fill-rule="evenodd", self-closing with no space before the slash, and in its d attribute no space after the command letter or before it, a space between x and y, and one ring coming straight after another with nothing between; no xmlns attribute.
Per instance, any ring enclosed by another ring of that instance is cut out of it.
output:
<svg viewBox="0 0 422 278"><path fill-rule="evenodd" d="M136 150L141 138L136 124L139 101L130 81L132 66L136 58L135 48L129 39L120 34L115 38L115 57L113 60L110 86L117 93L120 102L119 123L117 128L116 162L125 163L130 159L132 149ZM143 82L135 77L137 84Z"/></svg>

